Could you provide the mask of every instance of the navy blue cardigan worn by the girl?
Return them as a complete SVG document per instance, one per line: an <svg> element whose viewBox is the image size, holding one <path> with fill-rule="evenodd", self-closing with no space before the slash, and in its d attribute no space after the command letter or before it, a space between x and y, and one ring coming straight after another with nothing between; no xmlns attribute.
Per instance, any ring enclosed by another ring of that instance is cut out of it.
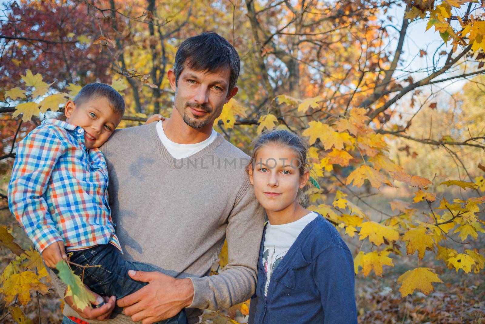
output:
<svg viewBox="0 0 485 324"><path fill-rule="evenodd" d="M354 260L335 227L322 215L300 233L271 275L258 261L258 285L248 324L355 324Z"/></svg>

